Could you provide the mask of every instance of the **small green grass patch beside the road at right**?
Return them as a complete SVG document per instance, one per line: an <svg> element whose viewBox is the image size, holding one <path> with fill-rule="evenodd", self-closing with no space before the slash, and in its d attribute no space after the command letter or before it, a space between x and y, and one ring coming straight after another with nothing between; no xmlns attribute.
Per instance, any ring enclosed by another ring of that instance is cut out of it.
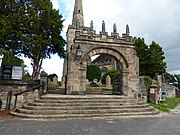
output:
<svg viewBox="0 0 180 135"><path fill-rule="evenodd" d="M160 102L158 105L155 103L149 103L150 106L162 111L170 112L170 109L174 109L178 104L180 104L180 98L167 98L165 101Z"/></svg>

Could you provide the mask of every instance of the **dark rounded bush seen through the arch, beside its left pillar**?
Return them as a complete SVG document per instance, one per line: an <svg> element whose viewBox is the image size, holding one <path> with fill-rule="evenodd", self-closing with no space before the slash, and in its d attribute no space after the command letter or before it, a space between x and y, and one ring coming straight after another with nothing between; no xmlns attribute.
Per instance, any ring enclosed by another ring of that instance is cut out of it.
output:
<svg viewBox="0 0 180 135"><path fill-rule="evenodd" d="M89 81L93 81L93 79L98 79L99 81L101 78L101 69L97 65L88 65L86 73Z"/></svg>

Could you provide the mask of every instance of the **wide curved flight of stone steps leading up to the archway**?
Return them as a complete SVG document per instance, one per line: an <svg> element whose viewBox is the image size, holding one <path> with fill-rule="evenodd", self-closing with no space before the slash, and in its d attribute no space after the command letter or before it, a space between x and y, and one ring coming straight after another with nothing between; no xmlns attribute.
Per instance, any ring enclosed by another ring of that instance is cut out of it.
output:
<svg viewBox="0 0 180 135"><path fill-rule="evenodd" d="M159 111L148 104L126 96L64 96L45 95L11 111L25 118L105 118L134 115L155 115Z"/></svg>

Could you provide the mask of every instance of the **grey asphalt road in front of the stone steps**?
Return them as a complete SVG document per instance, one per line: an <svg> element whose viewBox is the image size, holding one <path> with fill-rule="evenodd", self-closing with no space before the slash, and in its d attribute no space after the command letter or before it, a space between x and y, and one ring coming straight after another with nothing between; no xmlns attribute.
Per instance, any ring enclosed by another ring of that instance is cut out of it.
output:
<svg viewBox="0 0 180 135"><path fill-rule="evenodd" d="M180 105L162 117L26 121L0 118L0 135L180 135Z"/></svg>

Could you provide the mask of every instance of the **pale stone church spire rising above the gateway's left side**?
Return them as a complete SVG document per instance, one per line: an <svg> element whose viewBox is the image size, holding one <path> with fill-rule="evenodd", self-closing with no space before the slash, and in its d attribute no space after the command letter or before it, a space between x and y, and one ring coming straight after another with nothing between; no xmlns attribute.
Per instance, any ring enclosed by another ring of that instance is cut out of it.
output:
<svg viewBox="0 0 180 135"><path fill-rule="evenodd" d="M82 0L75 0L74 4L72 25L77 26L77 22L79 23L80 27L84 26Z"/></svg>

